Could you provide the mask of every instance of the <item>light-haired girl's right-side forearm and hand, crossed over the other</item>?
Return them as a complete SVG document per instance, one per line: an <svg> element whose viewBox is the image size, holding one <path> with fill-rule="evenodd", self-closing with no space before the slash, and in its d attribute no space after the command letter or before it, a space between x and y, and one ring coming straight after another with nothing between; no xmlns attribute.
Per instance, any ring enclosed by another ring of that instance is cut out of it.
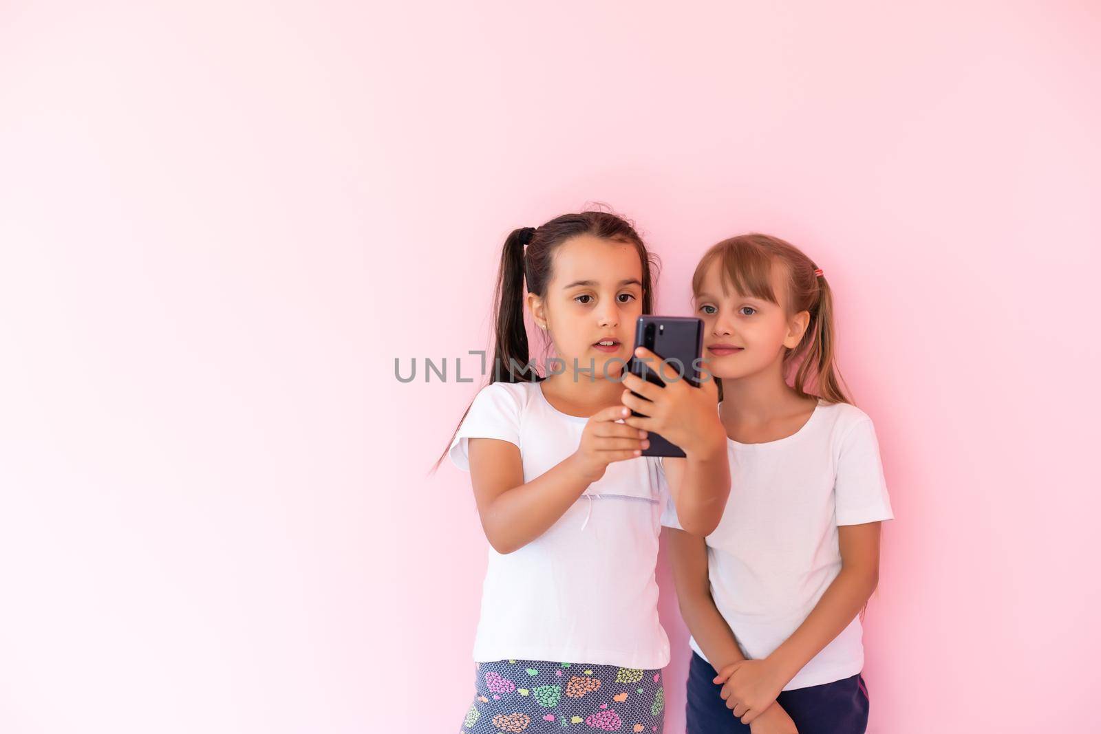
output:
<svg viewBox="0 0 1101 734"><path fill-rule="evenodd" d="M728 666L716 682L734 715L750 723L803 667L849 626L868 603L880 577L880 523L838 527L841 570L810 614L772 655Z"/></svg>

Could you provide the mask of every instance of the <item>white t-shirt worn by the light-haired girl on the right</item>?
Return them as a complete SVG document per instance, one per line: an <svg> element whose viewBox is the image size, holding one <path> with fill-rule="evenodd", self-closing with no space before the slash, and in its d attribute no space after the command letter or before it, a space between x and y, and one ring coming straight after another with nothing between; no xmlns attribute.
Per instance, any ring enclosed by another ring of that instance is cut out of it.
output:
<svg viewBox="0 0 1101 734"><path fill-rule="evenodd" d="M707 536L711 596L750 659L792 636L841 570L838 526L891 519L872 420L819 402L797 432L765 443L728 439L730 499ZM680 528L668 503L662 524ZM707 659L695 638L691 648ZM860 617L784 690L819 686L864 667Z"/></svg>

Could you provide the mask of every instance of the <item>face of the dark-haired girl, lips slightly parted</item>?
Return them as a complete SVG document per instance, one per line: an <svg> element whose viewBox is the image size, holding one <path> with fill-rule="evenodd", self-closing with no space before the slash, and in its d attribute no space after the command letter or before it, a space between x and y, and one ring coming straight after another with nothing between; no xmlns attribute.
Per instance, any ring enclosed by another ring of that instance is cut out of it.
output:
<svg viewBox="0 0 1101 734"><path fill-rule="evenodd" d="M527 305L535 324L549 332L566 374L577 360L601 379L619 375L631 358L642 295L642 262L633 244L580 234L558 247L546 294L528 294Z"/></svg>

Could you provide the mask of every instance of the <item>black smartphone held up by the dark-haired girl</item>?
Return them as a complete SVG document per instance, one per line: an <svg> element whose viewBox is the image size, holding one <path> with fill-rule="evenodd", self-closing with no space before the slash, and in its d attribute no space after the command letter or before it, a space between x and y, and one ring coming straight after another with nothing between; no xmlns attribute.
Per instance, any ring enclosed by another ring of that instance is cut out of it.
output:
<svg viewBox="0 0 1101 734"><path fill-rule="evenodd" d="M694 387L699 387L699 359L704 353L704 321L686 316L640 316L634 329L634 346L645 347L667 360L672 366ZM646 363L633 355L628 370L646 382L665 386L657 373L656 362ZM642 397L634 393L637 397ZM646 399L646 398L643 398ZM632 415L641 415L634 410ZM644 457L683 457L685 452L664 437L651 432L650 448Z"/></svg>

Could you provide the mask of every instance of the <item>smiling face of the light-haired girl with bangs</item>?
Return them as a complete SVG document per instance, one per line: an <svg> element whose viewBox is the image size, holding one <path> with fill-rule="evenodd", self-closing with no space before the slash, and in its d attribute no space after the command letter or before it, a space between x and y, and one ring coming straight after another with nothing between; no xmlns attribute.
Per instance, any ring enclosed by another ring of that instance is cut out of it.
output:
<svg viewBox="0 0 1101 734"><path fill-rule="evenodd" d="M716 377L756 374L783 361L785 350L803 339L810 315L788 315L785 269L773 263L770 281L778 304L738 293L721 262L708 269L694 300L704 320L704 358Z"/></svg>

